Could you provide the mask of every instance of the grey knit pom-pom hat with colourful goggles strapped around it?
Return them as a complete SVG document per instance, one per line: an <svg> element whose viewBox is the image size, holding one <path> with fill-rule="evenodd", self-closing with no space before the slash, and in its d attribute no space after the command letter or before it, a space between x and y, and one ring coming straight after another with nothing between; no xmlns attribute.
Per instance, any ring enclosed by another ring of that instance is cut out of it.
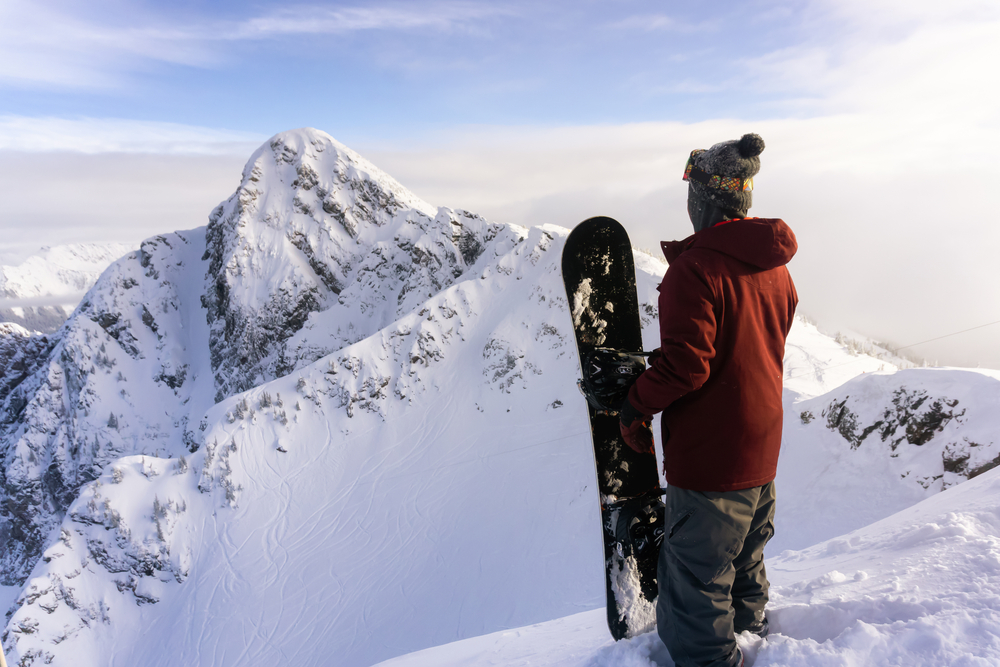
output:
<svg viewBox="0 0 1000 667"><path fill-rule="evenodd" d="M723 141L708 150L693 150L684 169L689 196L710 201L744 217L753 204L753 177L760 171L764 140L759 134L744 134L739 140Z"/></svg>

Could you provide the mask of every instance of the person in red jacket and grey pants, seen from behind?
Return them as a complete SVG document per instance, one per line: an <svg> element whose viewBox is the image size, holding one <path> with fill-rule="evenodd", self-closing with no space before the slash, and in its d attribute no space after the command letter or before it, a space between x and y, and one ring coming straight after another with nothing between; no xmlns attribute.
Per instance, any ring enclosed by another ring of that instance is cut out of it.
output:
<svg viewBox="0 0 1000 667"><path fill-rule="evenodd" d="M735 633L767 634L764 545L774 533L785 338L798 297L781 220L747 218L764 141L691 152L695 233L662 243L659 352L620 410L622 436L653 451L643 424L663 412L666 537L657 631L678 667L737 667Z"/></svg>

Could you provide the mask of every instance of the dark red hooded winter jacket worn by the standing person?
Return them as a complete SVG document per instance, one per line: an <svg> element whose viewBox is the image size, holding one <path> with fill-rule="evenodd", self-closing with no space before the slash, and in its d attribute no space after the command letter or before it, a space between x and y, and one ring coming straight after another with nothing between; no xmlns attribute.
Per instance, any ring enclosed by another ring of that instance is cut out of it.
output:
<svg viewBox="0 0 1000 667"><path fill-rule="evenodd" d="M660 348L629 391L663 411L667 483L733 491L774 479L781 447L785 338L798 303L785 264L795 234L743 218L662 243Z"/></svg>

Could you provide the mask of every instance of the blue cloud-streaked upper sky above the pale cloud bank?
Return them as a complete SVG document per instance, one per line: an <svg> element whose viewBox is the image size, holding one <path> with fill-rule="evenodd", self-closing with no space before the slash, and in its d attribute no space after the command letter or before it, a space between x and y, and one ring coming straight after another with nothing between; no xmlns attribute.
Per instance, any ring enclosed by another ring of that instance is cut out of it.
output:
<svg viewBox="0 0 1000 667"><path fill-rule="evenodd" d="M346 139L697 121L736 104L746 119L809 113L810 91L755 61L850 30L822 7L760 1L710 14L648 0L4 7L0 113Z"/></svg>

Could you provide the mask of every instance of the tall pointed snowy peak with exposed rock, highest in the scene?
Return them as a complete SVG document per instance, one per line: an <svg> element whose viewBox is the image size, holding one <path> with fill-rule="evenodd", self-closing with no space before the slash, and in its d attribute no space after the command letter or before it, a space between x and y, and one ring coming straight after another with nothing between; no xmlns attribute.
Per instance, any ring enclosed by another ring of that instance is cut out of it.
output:
<svg viewBox="0 0 1000 667"><path fill-rule="evenodd" d="M500 229L430 206L323 132L274 136L209 218L216 398L378 331L450 285Z"/></svg>

